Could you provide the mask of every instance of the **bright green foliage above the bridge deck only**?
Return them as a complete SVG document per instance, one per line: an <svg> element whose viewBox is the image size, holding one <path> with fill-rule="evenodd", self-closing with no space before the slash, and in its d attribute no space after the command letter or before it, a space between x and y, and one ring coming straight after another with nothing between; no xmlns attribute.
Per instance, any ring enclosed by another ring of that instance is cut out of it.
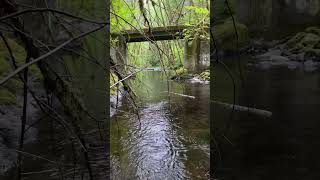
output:
<svg viewBox="0 0 320 180"><path fill-rule="evenodd" d="M143 9L151 27L209 23L208 2L195 0L187 5L183 0L144 1ZM111 31L147 27L138 1L114 0L111 3Z"/></svg>

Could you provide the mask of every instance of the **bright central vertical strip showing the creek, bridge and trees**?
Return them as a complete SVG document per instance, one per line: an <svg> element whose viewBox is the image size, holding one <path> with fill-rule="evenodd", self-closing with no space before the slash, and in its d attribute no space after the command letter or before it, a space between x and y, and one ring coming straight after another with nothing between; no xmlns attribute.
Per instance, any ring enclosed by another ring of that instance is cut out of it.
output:
<svg viewBox="0 0 320 180"><path fill-rule="evenodd" d="M112 1L114 179L209 178L209 8L208 0Z"/></svg>

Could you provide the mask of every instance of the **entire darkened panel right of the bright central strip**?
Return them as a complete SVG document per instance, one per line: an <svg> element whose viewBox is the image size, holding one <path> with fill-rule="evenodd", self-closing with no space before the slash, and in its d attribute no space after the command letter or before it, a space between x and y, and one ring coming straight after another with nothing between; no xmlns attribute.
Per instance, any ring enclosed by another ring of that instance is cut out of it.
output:
<svg viewBox="0 0 320 180"><path fill-rule="evenodd" d="M311 155L302 162L296 156L313 148L304 148L309 137L300 135L318 131L284 132L283 127L309 126L300 120L307 112L313 112L308 123L319 119L315 102L320 96L314 91L320 69L318 7L319 1L215 1L211 177L281 179L317 174L294 170L301 163L311 169L313 158L319 159ZM295 157L282 159L279 148L287 151L293 146L296 149L289 151ZM268 163L260 166L261 162ZM287 171L278 172L279 167ZM275 173L270 176L271 171Z"/></svg>

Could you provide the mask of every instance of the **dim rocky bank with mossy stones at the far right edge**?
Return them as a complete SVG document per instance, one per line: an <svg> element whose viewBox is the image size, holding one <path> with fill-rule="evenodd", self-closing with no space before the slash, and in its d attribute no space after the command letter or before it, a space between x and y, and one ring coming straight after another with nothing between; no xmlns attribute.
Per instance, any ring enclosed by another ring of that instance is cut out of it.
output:
<svg viewBox="0 0 320 180"><path fill-rule="evenodd" d="M303 66L307 71L314 71L320 67L320 28L309 27L282 40L255 40L242 53L254 56L258 65L264 68L287 66L295 69Z"/></svg>

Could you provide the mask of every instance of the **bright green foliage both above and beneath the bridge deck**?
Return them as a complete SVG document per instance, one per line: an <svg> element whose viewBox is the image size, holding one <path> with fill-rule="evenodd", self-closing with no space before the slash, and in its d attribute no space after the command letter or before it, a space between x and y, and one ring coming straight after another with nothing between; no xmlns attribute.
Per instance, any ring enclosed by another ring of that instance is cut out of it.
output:
<svg viewBox="0 0 320 180"><path fill-rule="evenodd" d="M111 33L150 30L155 27L185 27L182 40L128 44L128 64L139 68L179 70L184 67L185 41L192 41L196 37L209 41L209 7L210 2L206 0L112 1ZM115 42L112 47L117 48L116 42L119 40L113 38L112 41ZM119 63L118 66L127 65Z"/></svg>

